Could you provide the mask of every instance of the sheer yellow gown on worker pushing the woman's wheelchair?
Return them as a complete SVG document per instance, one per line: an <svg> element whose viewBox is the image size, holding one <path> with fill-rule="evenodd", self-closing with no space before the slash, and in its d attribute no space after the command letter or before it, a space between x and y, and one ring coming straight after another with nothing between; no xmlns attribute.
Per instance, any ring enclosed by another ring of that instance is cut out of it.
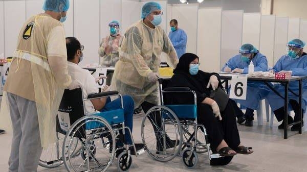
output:
<svg viewBox="0 0 307 172"><path fill-rule="evenodd" d="M144 101L158 104L158 82L150 82L147 76L159 72L162 52L168 55L168 65L176 67L176 50L161 27L151 29L143 20L130 26L124 35L111 89L132 96L135 108Z"/></svg>

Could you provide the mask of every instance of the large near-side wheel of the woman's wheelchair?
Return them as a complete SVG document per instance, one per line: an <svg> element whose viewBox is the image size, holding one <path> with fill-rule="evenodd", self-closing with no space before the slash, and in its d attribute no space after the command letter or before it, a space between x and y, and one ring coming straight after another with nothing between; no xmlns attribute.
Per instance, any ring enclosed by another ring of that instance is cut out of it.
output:
<svg viewBox="0 0 307 172"><path fill-rule="evenodd" d="M142 120L141 136L147 153L155 160L169 161L181 151L181 124L167 107L155 106L148 110Z"/></svg>

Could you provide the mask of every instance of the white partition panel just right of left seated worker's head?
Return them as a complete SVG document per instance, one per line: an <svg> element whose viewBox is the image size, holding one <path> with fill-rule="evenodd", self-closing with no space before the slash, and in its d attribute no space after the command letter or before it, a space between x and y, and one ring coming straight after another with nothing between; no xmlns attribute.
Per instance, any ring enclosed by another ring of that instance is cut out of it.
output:
<svg viewBox="0 0 307 172"><path fill-rule="evenodd" d="M274 62L275 15L262 15L259 51L268 59L268 65Z"/></svg>

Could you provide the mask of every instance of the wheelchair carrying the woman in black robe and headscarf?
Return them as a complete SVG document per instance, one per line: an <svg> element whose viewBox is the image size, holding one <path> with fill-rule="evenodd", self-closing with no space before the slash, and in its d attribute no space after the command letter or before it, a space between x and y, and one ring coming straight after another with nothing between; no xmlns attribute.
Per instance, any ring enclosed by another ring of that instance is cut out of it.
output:
<svg viewBox="0 0 307 172"><path fill-rule="evenodd" d="M186 167L198 164L198 153L208 153L208 158L220 158L210 150L207 132L197 121L196 93L190 88L174 87L162 89L167 79L159 79L161 105L147 111L141 126L142 141L153 159L169 161L179 154ZM165 96L182 94L192 99L191 104L169 104ZM177 140L177 146L168 145L167 138Z"/></svg>

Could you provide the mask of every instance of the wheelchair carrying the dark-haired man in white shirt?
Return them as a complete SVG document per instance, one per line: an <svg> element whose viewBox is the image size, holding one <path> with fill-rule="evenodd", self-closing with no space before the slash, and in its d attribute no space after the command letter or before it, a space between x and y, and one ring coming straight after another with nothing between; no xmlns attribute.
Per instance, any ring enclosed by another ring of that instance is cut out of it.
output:
<svg viewBox="0 0 307 172"><path fill-rule="evenodd" d="M134 149L136 156L143 153L144 149L137 152L131 131L124 125L121 95L117 91L91 94L87 99L83 99L82 95L81 88L64 91L58 111L60 128L57 127L57 133L62 135L58 139L59 144L56 144L58 145L56 148L57 156L49 154L52 158L41 157L40 161L47 159L48 161L44 161L44 164L45 166L47 164L48 167L55 167L64 163L68 171L106 171L113 162L117 151L115 149L116 139L122 132L123 134L130 134L132 144L124 144L124 151L117 158L117 167L119 171L128 171L132 163L129 148ZM109 96L119 96L122 108L85 114L85 101ZM124 129L129 133L125 133ZM60 143L62 143L61 146Z"/></svg>

